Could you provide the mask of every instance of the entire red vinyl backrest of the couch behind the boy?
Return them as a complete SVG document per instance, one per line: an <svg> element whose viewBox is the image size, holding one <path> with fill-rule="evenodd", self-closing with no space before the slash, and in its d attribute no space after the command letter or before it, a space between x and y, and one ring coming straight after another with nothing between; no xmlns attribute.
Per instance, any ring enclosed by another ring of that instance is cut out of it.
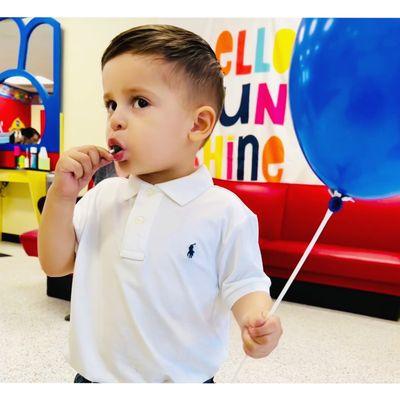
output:
<svg viewBox="0 0 400 400"><path fill-rule="evenodd" d="M321 223L330 194L326 186L233 182L214 179L236 193L258 216L260 237L309 242ZM400 251L400 196L345 202L332 215L319 243Z"/></svg>

